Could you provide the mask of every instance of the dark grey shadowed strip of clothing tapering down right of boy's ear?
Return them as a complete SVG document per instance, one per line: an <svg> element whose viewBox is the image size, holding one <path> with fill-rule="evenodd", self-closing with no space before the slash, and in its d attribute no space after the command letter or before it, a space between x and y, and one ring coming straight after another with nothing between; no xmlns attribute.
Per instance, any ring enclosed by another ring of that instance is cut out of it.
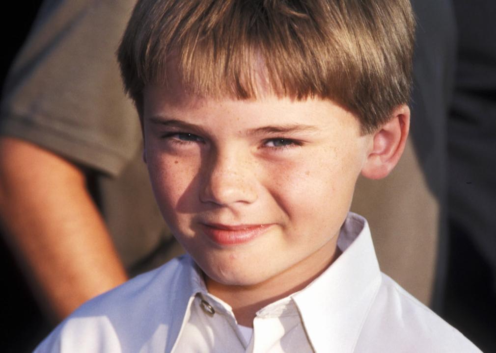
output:
<svg viewBox="0 0 496 353"><path fill-rule="evenodd" d="M410 138L439 203L431 307L440 311L447 271L446 123L454 86L456 24L451 0L412 0L417 18Z"/></svg>

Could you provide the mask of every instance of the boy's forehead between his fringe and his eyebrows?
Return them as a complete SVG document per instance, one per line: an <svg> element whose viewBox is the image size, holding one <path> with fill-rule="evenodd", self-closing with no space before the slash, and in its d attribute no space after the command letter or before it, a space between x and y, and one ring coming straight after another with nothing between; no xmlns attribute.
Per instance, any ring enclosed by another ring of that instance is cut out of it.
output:
<svg viewBox="0 0 496 353"><path fill-rule="evenodd" d="M181 85L149 85L144 93L145 118L162 126L220 128L227 134L235 131L248 136L335 133L347 126L355 131L353 136L360 135L357 116L328 99L295 100L275 95L219 99L190 94Z"/></svg>

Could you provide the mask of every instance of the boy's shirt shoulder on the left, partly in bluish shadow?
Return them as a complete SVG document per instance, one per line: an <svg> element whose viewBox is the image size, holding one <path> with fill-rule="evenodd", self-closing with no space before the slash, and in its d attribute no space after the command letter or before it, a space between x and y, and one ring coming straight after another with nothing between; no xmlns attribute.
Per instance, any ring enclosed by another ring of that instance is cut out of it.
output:
<svg viewBox="0 0 496 353"><path fill-rule="evenodd" d="M193 291L191 264L188 255L174 258L84 303L35 352L139 352L153 337L166 351L163 338L183 321Z"/></svg>

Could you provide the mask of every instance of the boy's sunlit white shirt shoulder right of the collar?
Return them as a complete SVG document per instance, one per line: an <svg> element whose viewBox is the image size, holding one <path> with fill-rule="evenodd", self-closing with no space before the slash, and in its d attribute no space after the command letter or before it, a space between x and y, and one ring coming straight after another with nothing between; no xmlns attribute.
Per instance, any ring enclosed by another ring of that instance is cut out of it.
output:
<svg viewBox="0 0 496 353"><path fill-rule="evenodd" d="M382 274L381 286L355 352L481 351L389 276Z"/></svg>

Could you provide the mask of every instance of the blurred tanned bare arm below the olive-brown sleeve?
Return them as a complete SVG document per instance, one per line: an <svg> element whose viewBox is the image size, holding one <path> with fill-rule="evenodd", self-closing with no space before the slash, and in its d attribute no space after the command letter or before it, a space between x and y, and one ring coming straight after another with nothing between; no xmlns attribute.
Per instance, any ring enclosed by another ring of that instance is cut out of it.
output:
<svg viewBox="0 0 496 353"><path fill-rule="evenodd" d="M0 138L0 221L42 306L59 321L127 277L83 172Z"/></svg>

